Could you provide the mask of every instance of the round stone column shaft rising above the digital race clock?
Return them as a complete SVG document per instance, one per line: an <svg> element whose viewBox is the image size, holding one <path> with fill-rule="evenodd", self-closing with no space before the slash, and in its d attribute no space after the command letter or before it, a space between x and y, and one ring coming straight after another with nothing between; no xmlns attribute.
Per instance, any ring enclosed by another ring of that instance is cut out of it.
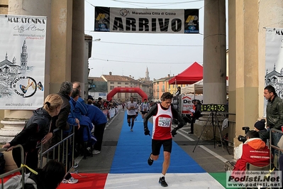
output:
<svg viewBox="0 0 283 189"><path fill-rule="evenodd" d="M226 2L204 4L204 104L226 104Z"/></svg>

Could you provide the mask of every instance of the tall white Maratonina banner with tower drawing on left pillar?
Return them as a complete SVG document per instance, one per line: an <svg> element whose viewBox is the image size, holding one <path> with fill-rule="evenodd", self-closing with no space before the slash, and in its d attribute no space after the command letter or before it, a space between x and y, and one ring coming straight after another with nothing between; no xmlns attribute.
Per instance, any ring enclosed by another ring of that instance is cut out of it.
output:
<svg viewBox="0 0 283 189"><path fill-rule="evenodd" d="M0 109L44 102L45 16L0 15Z"/></svg>

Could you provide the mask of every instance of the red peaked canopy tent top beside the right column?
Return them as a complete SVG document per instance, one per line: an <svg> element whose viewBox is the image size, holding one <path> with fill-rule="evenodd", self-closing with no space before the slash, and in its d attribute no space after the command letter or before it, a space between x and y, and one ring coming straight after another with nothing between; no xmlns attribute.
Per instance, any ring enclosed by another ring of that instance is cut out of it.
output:
<svg viewBox="0 0 283 189"><path fill-rule="evenodd" d="M202 80L203 68L199 63L194 62L186 70L179 73L175 77L169 80L169 85L182 85L182 84L194 84L199 80Z"/></svg>

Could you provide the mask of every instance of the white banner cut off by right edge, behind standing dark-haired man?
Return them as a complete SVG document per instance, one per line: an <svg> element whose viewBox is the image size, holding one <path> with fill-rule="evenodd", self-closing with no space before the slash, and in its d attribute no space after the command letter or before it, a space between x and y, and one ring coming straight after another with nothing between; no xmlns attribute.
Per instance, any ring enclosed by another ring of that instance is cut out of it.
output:
<svg viewBox="0 0 283 189"><path fill-rule="evenodd" d="M283 28L265 30L265 86L272 85L283 98ZM264 101L263 116L266 117L267 100Z"/></svg>

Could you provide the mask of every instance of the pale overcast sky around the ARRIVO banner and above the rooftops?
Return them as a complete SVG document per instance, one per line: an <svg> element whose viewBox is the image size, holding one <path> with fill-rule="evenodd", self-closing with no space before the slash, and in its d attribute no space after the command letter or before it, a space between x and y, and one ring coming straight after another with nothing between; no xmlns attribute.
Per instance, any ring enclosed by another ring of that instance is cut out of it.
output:
<svg viewBox="0 0 283 189"><path fill-rule="evenodd" d="M170 3L169 3L170 2ZM192 63L202 65L204 1L179 0L85 0L84 32L93 36L89 68L91 77L131 75L150 80L177 75ZM95 6L136 9L199 9L200 34L151 34L94 32Z"/></svg>

